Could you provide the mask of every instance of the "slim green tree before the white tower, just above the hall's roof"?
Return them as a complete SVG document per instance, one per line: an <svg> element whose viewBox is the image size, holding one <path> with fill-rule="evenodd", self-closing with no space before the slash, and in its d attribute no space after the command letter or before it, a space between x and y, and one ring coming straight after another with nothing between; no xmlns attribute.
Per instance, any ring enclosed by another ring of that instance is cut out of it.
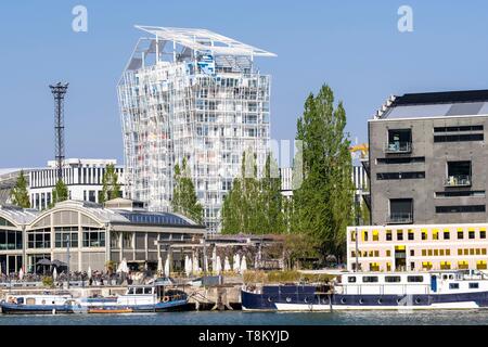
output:
<svg viewBox="0 0 488 347"><path fill-rule="evenodd" d="M171 206L175 213L202 223L203 206L196 197L195 185L191 179L190 169L187 167L187 158L183 164L175 165L175 188L172 192Z"/></svg>

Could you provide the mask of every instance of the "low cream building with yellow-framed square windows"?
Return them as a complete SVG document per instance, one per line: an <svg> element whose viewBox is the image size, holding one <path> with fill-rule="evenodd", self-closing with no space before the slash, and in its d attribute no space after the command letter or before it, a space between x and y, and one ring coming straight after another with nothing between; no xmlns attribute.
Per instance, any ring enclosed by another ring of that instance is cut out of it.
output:
<svg viewBox="0 0 488 347"><path fill-rule="evenodd" d="M486 270L487 228L488 223L349 227L347 267L350 271Z"/></svg>

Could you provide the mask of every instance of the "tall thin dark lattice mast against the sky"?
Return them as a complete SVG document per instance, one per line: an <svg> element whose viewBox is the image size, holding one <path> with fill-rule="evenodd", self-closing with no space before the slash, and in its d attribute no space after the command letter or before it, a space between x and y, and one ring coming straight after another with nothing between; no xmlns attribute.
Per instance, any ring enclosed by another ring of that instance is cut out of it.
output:
<svg viewBox="0 0 488 347"><path fill-rule="evenodd" d="M69 83L59 82L49 86L54 97L54 134L55 134L55 159L57 163L57 180L63 179L64 163L64 97L66 95Z"/></svg>

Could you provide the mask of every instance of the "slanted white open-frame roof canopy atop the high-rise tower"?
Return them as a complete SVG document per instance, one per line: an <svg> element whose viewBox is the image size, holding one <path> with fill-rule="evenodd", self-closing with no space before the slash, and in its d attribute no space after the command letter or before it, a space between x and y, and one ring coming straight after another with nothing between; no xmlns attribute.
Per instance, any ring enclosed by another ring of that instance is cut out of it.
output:
<svg viewBox="0 0 488 347"><path fill-rule="evenodd" d="M217 55L277 56L277 54L236 41L207 29L170 28L136 25L136 28L195 51L213 51Z"/></svg>

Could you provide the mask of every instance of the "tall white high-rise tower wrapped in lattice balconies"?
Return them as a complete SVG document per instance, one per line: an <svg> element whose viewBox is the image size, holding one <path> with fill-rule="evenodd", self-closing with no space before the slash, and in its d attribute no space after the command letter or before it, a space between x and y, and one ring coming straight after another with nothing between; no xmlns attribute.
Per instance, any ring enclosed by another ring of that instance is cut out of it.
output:
<svg viewBox="0 0 488 347"><path fill-rule="evenodd" d="M209 231L240 175L244 151L262 171L270 142L273 53L205 29L137 26L139 40L118 83L126 184L151 210L170 210L174 168L189 163Z"/></svg>

